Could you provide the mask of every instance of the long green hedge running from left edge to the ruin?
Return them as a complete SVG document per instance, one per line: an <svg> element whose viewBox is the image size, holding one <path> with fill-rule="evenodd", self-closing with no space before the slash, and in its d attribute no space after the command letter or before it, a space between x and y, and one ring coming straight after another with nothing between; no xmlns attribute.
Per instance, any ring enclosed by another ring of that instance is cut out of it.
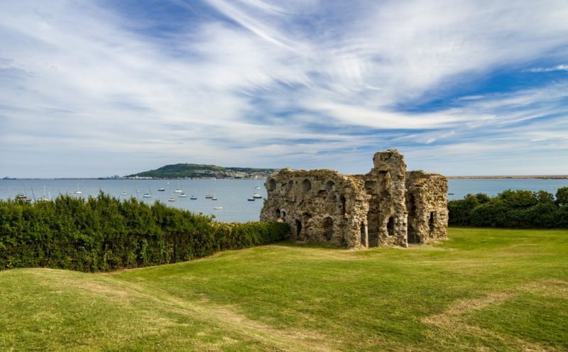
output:
<svg viewBox="0 0 568 352"><path fill-rule="evenodd" d="M288 231L279 222L219 223L160 202L103 193L33 204L0 200L0 270L93 272L177 263L280 241Z"/></svg>

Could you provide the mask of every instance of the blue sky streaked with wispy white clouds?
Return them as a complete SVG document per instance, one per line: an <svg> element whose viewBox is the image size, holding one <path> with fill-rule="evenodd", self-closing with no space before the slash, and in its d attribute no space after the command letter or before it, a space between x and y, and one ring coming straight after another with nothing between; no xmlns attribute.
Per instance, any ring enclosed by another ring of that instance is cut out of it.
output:
<svg viewBox="0 0 568 352"><path fill-rule="evenodd" d="M0 1L0 177L568 174L568 2Z"/></svg>

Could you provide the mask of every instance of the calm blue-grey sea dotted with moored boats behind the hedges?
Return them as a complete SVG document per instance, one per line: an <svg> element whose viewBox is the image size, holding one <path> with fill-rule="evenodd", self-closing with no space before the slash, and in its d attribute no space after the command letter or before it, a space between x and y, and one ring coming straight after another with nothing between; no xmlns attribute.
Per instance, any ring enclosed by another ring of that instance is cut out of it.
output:
<svg viewBox="0 0 568 352"><path fill-rule="evenodd" d="M263 199L266 198L265 180L0 180L0 199L14 199L16 194L26 194L38 199L53 199L59 194L71 194L73 197L89 197L104 192L114 197L134 197L152 204L159 201L170 207L187 209L195 213L212 215L217 221L246 222L258 221ZM568 187L568 180L541 179L449 179L448 199L462 199L468 193L496 195L506 189L545 190L556 194L559 187ZM160 192L158 189L165 189ZM179 197L175 189L182 189L187 197ZM80 190L80 194L75 191ZM126 195L122 195L126 193ZM150 198L143 194L151 194ZM249 201L253 193L262 199ZM217 200L207 199L212 194ZM194 195L197 199L190 199ZM169 202L173 198L175 202ZM215 208L222 209L215 209Z"/></svg>

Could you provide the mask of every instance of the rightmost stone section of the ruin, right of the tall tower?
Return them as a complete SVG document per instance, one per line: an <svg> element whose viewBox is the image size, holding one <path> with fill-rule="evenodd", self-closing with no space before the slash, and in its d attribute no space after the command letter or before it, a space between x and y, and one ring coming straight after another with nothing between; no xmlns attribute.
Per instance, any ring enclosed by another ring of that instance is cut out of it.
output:
<svg viewBox="0 0 568 352"><path fill-rule="evenodd" d="M424 171L406 172L408 243L429 243L447 237L448 182Z"/></svg>

